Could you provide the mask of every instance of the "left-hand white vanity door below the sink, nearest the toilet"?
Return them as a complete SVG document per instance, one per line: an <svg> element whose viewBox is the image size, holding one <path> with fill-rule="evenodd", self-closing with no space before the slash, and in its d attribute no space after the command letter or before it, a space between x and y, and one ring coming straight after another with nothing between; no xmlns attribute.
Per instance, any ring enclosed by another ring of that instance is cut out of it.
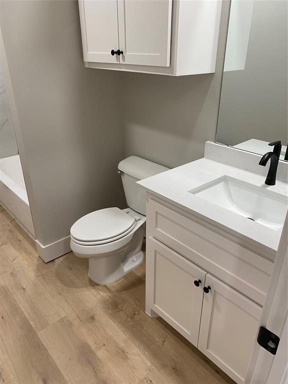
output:
<svg viewBox="0 0 288 384"><path fill-rule="evenodd" d="M146 240L146 311L197 346L205 271L157 240ZM200 280L200 282L198 281Z"/></svg>

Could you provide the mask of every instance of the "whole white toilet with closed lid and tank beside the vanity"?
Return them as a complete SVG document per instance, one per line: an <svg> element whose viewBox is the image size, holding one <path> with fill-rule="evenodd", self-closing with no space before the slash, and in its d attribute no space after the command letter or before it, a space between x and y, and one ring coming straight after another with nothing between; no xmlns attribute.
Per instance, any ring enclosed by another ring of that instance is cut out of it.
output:
<svg viewBox="0 0 288 384"><path fill-rule="evenodd" d="M128 208L99 209L79 218L70 229L70 246L78 257L89 258L88 276L98 284L109 284L138 266L145 221L145 191L136 181L168 170L143 158L120 161Z"/></svg>

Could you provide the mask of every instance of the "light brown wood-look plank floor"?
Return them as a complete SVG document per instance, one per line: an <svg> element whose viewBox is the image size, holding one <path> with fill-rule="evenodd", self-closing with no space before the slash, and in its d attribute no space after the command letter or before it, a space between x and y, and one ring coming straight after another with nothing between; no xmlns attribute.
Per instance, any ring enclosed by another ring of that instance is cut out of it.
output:
<svg viewBox="0 0 288 384"><path fill-rule="evenodd" d="M72 252L45 264L0 206L1 384L233 382L144 311L145 269L108 286Z"/></svg>

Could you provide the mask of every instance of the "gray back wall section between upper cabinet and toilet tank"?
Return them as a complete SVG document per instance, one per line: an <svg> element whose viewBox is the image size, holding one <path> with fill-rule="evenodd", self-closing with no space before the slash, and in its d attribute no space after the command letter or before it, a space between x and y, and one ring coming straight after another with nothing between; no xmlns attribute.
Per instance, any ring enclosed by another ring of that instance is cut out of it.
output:
<svg viewBox="0 0 288 384"><path fill-rule="evenodd" d="M223 1L215 74L123 74L125 156L168 167L203 156L215 139L229 2Z"/></svg>

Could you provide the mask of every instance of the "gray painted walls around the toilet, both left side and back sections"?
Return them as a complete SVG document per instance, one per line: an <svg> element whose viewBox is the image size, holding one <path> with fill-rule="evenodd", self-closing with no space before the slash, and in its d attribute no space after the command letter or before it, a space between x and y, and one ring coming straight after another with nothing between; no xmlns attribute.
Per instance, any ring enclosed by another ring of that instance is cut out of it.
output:
<svg viewBox="0 0 288 384"><path fill-rule="evenodd" d="M84 68L77 1L1 1L15 131L43 245L89 211L124 206L115 172L124 156L169 167L203 156L215 137L227 10L224 1L216 73L175 78Z"/></svg>

